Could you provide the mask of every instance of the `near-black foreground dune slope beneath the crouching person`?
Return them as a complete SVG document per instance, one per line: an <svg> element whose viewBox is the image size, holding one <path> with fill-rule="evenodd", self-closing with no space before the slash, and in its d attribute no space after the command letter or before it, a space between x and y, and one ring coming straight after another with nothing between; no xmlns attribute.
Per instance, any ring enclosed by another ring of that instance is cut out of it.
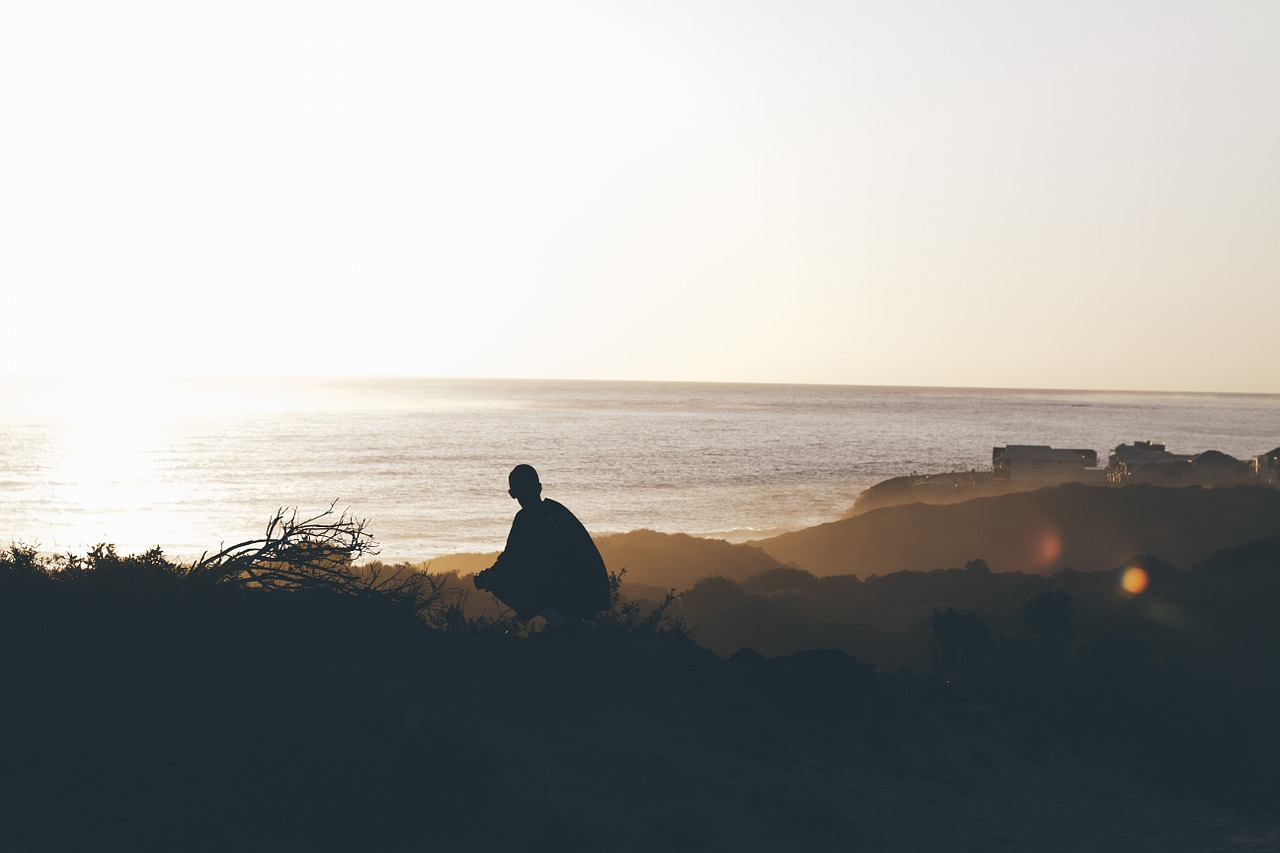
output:
<svg viewBox="0 0 1280 853"><path fill-rule="evenodd" d="M1193 578L1238 642L1274 640L1277 553ZM1184 672L1169 653L1194 637L1080 637L1056 598L893 671L717 656L625 610L543 640L358 585L19 564L0 558L6 852L1280 845L1274 704L1248 698L1274 693L1266 663Z"/></svg>

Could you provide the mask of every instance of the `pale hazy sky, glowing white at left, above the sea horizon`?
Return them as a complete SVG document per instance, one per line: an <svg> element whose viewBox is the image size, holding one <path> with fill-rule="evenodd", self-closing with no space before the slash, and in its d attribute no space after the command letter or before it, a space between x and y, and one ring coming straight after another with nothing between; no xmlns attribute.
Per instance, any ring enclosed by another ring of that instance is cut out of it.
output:
<svg viewBox="0 0 1280 853"><path fill-rule="evenodd" d="M0 370L1280 392L1280 3L0 5Z"/></svg>

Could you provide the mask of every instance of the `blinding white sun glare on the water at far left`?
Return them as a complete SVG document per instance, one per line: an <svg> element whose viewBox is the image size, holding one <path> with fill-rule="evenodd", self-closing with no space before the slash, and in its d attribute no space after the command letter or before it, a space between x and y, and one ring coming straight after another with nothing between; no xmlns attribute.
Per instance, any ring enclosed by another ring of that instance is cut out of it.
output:
<svg viewBox="0 0 1280 853"><path fill-rule="evenodd" d="M264 414L332 412L403 405L370 387L288 378L52 377L5 388L17 420L42 424L22 464L51 511L18 535L50 552L83 553L113 543L120 553L205 546L192 524L219 511L206 471L193 470L196 442L223 425ZM221 532L214 532L214 535ZM186 552L180 552L186 553Z"/></svg>

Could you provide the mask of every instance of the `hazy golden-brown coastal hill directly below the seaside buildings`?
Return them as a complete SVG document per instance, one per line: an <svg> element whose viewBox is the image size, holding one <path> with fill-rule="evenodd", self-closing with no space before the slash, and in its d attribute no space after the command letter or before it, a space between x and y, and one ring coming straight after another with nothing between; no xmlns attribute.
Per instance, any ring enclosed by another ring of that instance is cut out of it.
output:
<svg viewBox="0 0 1280 853"><path fill-rule="evenodd" d="M1114 569L1149 553L1189 567L1280 533L1280 491L1059 485L952 505L890 506L755 542L817 575L929 570L984 560L995 571Z"/></svg>

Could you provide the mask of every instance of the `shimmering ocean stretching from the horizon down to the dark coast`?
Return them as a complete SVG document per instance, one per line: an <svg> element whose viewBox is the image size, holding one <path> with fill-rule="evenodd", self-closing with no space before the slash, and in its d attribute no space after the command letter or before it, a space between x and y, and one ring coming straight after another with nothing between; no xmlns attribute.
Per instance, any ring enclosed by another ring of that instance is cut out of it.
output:
<svg viewBox="0 0 1280 853"><path fill-rule="evenodd" d="M993 446L1135 439L1251 459L1280 396L476 379L9 380L0 540L178 558L280 507L366 519L380 557L498 551L507 471L596 534L762 538L838 517L904 474L987 470Z"/></svg>

